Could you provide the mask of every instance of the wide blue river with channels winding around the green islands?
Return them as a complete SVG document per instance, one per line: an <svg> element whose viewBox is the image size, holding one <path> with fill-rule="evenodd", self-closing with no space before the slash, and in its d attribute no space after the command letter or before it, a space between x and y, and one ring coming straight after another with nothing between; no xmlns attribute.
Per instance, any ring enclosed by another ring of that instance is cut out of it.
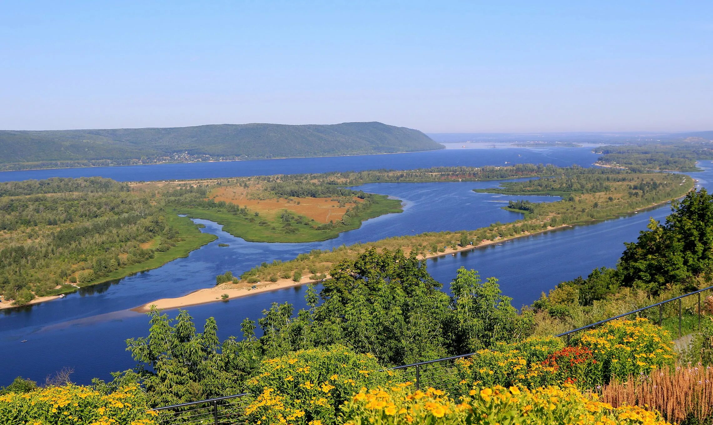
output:
<svg viewBox="0 0 713 425"><path fill-rule="evenodd" d="M519 156L518 156L519 155ZM426 153L364 155L338 158L237 161L140 165L116 168L77 168L0 173L0 180L48 178L53 176L102 175L116 180L168 180L210 178L274 173L324 172L379 168L411 169L434 165L501 165L509 163L553 163L590 165L596 155L589 148L498 148L446 149ZM701 185L713 182L710 163L702 173L694 173ZM376 183L360 188L391 195L404 201L404 213L367 220L356 230L343 232L324 242L260 243L245 242L222 232L220 225L195 220L206 227L203 232L218 236L198 250L156 270L126 277L118 282L96 285L64 299L0 312L0 385L22 376L44 382L63 367L74 370L74 382L88 383L93 377L109 379L109 372L133 367L125 352L125 339L148 334L148 320L133 307L163 297L177 297L215 282L215 275L232 270L235 275L263 261L290 260L301 252L327 249L342 244L369 242L396 235L419 232L473 229L491 222L517 220L520 215L502 210L509 197L474 193L473 188L488 188L500 182L478 183ZM557 198L525 197L535 202ZM623 250L623 242L636 240L645 230L649 217L663 220L668 206L645 213L608 220L595 225L523 237L501 246L462 252L428 261L436 280L448 289L458 267L478 270L483 277L500 279L506 295L516 307L537 299L558 282L587 275L595 267L613 266ZM229 247L218 247L227 243ZM257 319L271 302L304 305L304 287L276 290L188 307L198 327L207 317L215 317L220 336L240 335L245 317ZM169 311L175 314L176 311ZM21 342L22 340L27 342Z"/></svg>

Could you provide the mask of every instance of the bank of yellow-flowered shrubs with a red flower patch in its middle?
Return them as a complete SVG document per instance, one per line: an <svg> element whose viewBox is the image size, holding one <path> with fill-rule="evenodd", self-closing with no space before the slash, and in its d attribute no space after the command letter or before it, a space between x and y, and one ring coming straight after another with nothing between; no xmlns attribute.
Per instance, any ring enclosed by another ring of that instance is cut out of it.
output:
<svg viewBox="0 0 713 425"><path fill-rule="evenodd" d="M560 339L533 337L501 344L458 359L461 389L493 385L538 386L576 384L593 389L610 379L648 374L674 362L667 331L647 319L609 322L584 332L574 345Z"/></svg>

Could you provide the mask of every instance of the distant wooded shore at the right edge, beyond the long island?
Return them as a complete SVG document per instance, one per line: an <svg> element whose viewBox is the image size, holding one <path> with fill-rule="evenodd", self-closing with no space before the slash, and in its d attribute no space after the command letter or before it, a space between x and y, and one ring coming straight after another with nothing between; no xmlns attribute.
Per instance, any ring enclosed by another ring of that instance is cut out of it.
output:
<svg viewBox="0 0 713 425"><path fill-rule="evenodd" d="M601 153L598 159L607 165L616 165L631 170L680 170L699 171L697 160L713 159L711 142L672 142L645 145L603 146L595 149Z"/></svg>

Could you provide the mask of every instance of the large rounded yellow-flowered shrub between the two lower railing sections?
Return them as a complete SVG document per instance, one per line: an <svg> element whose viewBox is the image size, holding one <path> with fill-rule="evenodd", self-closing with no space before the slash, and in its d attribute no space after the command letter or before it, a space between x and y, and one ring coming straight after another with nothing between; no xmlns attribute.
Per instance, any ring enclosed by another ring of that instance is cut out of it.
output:
<svg viewBox="0 0 713 425"><path fill-rule="evenodd" d="M247 389L257 394L246 409L249 424L334 424L339 405L363 386L389 383L393 372L371 354L342 346L308 349L262 362Z"/></svg>

